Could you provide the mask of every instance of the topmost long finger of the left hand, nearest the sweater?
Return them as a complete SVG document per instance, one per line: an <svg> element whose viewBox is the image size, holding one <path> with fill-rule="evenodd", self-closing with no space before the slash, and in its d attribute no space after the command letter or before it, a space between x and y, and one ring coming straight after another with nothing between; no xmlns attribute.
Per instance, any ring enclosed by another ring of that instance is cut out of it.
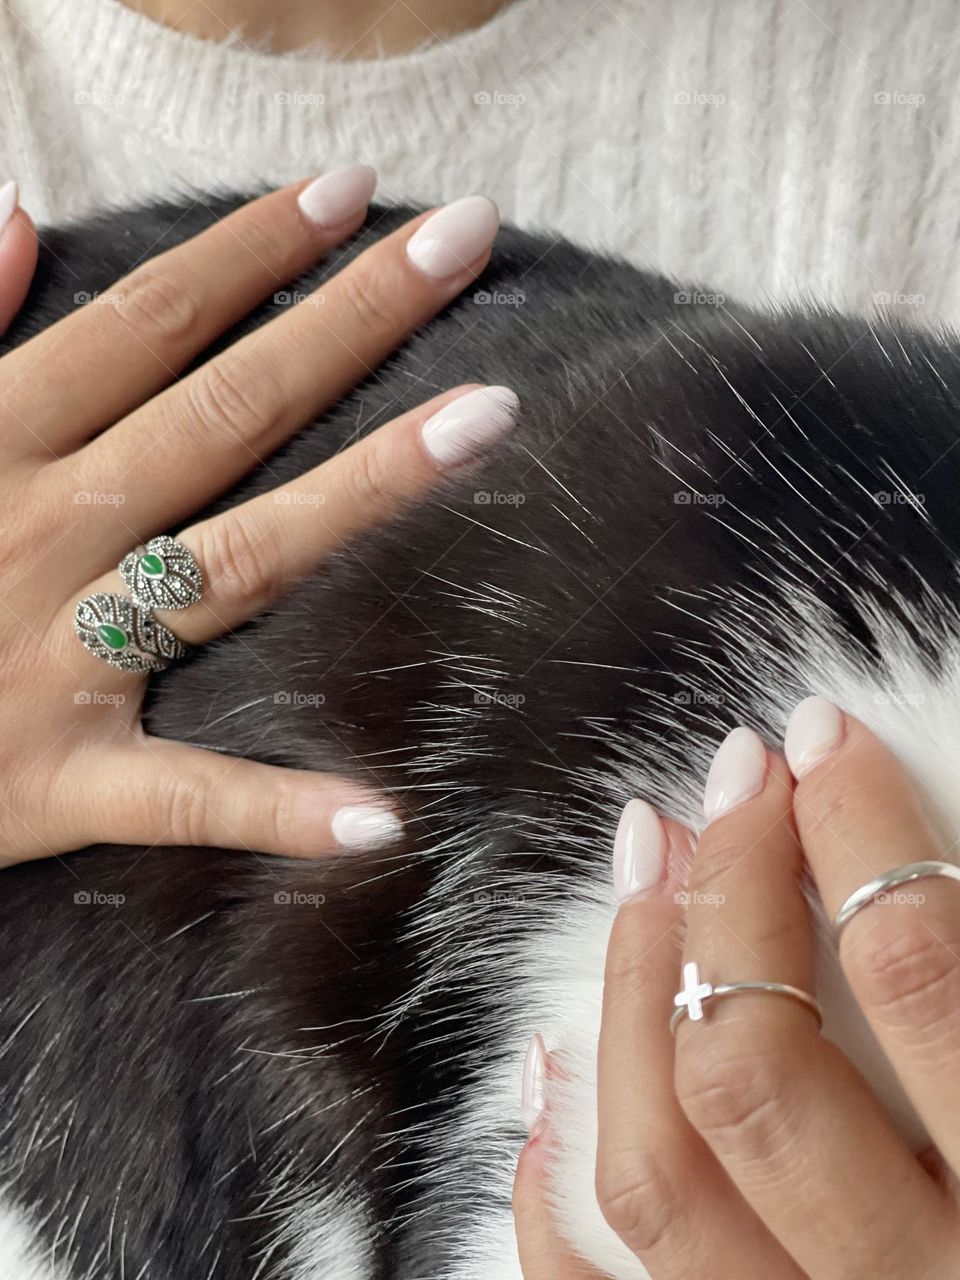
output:
<svg viewBox="0 0 960 1280"><path fill-rule="evenodd" d="M270 192L17 347L0 366L6 434L23 452L56 457L142 404L261 298L356 230L374 180L371 169L351 165ZM160 243L177 225L172 214ZM84 283L78 279L78 293ZM102 476L95 488L105 488Z"/></svg>

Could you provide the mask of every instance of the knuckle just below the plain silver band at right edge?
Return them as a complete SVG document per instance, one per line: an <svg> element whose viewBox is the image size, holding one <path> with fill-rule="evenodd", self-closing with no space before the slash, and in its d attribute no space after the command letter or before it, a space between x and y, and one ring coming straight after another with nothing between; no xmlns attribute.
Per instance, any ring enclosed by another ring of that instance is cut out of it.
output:
<svg viewBox="0 0 960 1280"><path fill-rule="evenodd" d="M960 1014L960 938L931 928L914 909L874 925L846 951L850 979L891 1025L934 1029Z"/></svg>

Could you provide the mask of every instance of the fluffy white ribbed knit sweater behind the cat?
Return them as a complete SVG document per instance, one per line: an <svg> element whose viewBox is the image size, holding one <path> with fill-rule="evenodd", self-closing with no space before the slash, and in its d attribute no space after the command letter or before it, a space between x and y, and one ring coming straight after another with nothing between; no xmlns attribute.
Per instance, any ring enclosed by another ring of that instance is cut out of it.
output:
<svg viewBox="0 0 960 1280"><path fill-rule="evenodd" d="M283 183L506 218L727 296L960 321L952 0L516 0L379 61L180 36L118 0L0 5L0 178L40 219Z"/></svg>

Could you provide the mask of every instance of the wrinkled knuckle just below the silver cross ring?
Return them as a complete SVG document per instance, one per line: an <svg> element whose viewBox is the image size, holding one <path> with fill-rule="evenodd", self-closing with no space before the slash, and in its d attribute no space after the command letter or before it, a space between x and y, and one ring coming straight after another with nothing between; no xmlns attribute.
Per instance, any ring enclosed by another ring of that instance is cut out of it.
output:
<svg viewBox="0 0 960 1280"><path fill-rule="evenodd" d="M751 1028L749 1048L730 1043L731 1036L723 1030L714 1023L707 1044L701 1033L685 1037L678 1046L677 1098L687 1120L708 1140L763 1155L782 1143L788 1079L785 1051L764 1046L756 1027ZM741 1034L736 1032L737 1039Z"/></svg>

